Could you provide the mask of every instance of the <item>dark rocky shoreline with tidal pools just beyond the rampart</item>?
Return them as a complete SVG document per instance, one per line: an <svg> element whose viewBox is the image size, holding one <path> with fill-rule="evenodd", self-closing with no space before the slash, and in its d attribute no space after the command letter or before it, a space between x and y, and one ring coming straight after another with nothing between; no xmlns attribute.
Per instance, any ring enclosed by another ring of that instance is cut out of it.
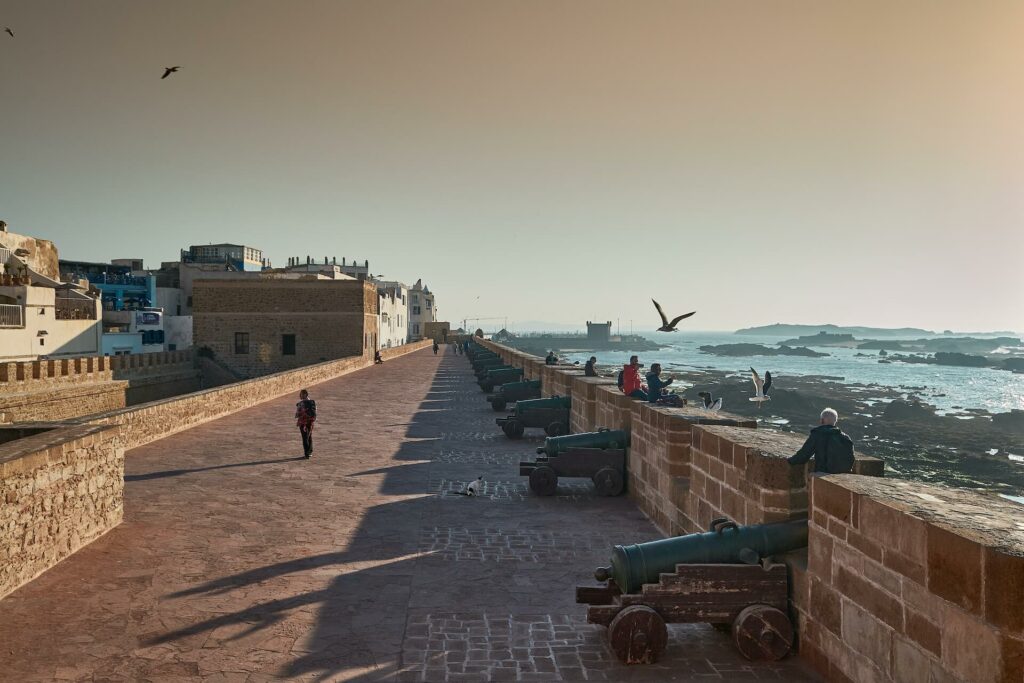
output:
<svg viewBox="0 0 1024 683"><path fill-rule="evenodd" d="M1024 462L1011 458L1024 456L1024 411L938 415L918 393L924 387L847 384L828 376L779 377L772 400L758 410L748 400L745 374L686 367L667 371L690 404L699 404L697 392L711 391L722 397L724 411L797 433L807 433L821 410L831 407L857 451L884 459L890 474L1024 496Z"/></svg>

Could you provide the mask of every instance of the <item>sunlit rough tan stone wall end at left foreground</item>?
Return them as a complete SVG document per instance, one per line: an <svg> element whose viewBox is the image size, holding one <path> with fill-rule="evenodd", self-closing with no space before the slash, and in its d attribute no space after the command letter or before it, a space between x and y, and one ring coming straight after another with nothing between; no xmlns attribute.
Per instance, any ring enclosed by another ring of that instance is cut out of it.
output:
<svg viewBox="0 0 1024 683"><path fill-rule="evenodd" d="M74 425L0 444L0 598L121 523L115 436Z"/></svg>

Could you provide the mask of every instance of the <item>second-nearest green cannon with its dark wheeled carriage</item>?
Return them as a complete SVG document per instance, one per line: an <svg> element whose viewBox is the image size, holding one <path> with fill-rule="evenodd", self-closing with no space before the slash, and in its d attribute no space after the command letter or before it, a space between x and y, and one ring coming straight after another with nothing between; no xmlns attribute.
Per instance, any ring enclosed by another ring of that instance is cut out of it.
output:
<svg viewBox="0 0 1024 683"><path fill-rule="evenodd" d="M618 496L626 487L629 439L618 429L551 436L537 450L537 460L519 463L519 475L529 477L529 488L538 496L553 496L558 477L589 477L599 495Z"/></svg>

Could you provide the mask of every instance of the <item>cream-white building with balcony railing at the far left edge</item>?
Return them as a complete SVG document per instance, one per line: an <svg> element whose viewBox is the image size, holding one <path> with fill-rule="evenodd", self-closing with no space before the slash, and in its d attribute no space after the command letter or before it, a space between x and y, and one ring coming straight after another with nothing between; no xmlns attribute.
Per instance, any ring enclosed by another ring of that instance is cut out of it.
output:
<svg viewBox="0 0 1024 683"><path fill-rule="evenodd" d="M0 360L99 355L101 304L85 290L59 282L52 242L0 221Z"/></svg>

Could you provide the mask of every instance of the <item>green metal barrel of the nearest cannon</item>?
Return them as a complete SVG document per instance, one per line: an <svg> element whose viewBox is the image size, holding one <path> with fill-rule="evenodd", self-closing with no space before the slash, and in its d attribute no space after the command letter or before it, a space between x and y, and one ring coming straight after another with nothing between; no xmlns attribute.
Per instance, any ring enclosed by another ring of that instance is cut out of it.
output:
<svg viewBox="0 0 1024 683"><path fill-rule="evenodd" d="M615 546L611 566L598 567L594 578L611 579L623 593L636 593L644 584L655 584L677 564L740 564L807 546L807 520L736 526L728 523L716 531L677 536L660 541Z"/></svg>

